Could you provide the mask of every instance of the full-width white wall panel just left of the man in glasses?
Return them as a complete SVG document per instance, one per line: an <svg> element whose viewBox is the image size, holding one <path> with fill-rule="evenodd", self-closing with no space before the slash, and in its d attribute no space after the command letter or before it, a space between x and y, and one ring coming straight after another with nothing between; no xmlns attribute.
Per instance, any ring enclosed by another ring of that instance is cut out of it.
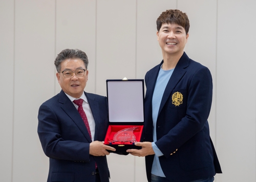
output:
<svg viewBox="0 0 256 182"><path fill-rule="evenodd" d="M37 114L54 94L54 1L15 2L13 182L46 181Z"/></svg>

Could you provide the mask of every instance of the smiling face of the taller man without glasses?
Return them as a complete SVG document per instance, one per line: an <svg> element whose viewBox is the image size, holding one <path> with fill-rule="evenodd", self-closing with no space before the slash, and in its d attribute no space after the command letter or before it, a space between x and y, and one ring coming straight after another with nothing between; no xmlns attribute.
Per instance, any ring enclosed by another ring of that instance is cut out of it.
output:
<svg viewBox="0 0 256 182"><path fill-rule="evenodd" d="M162 48L163 57L182 55L187 43L188 34L183 27L178 24L163 23L157 40Z"/></svg>

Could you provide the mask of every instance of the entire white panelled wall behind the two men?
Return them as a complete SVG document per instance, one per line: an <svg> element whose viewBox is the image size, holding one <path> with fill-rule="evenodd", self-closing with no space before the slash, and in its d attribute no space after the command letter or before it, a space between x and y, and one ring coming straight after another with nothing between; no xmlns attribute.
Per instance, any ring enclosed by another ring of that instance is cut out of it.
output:
<svg viewBox="0 0 256 182"><path fill-rule="evenodd" d="M185 51L214 79L216 181L255 182L255 8L255 0L0 0L0 181L47 179L37 113L60 91L54 59L62 49L87 53L85 90L106 95L106 79L144 79L162 60L156 19L180 9L190 20ZM108 162L111 182L146 181L144 158L111 154Z"/></svg>

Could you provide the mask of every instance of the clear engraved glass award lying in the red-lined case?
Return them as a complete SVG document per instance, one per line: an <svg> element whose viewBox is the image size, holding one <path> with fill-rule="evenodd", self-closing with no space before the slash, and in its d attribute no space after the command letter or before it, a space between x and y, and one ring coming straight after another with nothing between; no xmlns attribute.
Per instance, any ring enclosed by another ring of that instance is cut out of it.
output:
<svg viewBox="0 0 256 182"><path fill-rule="evenodd" d="M113 142L136 142L136 136L133 134L135 129L138 129L138 126L128 127L120 130L114 135Z"/></svg>

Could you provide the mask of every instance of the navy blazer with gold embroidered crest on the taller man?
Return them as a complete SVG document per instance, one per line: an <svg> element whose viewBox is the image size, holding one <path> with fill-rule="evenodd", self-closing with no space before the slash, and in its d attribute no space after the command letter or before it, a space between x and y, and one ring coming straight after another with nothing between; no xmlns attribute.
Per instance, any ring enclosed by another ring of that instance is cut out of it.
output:
<svg viewBox="0 0 256 182"><path fill-rule="evenodd" d="M144 141L149 142L153 142L152 97L162 63L145 75ZM211 100L210 71L184 53L165 88L156 124L156 145L163 153L159 161L168 180L186 182L221 173L209 136ZM153 159L154 155L145 158L148 181Z"/></svg>

